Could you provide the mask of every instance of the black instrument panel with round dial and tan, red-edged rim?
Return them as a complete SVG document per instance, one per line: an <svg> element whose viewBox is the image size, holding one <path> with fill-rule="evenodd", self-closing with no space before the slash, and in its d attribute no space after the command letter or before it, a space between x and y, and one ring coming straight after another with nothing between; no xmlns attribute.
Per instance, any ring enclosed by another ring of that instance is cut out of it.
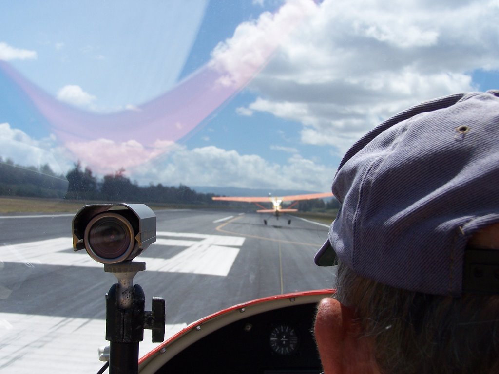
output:
<svg viewBox="0 0 499 374"><path fill-rule="evenodd" d="M321 373L313 321L317 302L322 297L325 296L309 295L308 300L299 296L267 300L253 306L235 307L227 314L215 316L213 321L193 324L180 337L190 339L192 344L185 344L178 352L162 359L162 354L173 348L166 344L156 352L158 362L153 365L154 373ZM252 311L252 307L257 310ZM245 313L248 313L246 317ZM221 319L227 319L228 323ZM210 322L218 326L210 329ZM204 336L194 338L207 328L210 331L205 331Z"/></svg>

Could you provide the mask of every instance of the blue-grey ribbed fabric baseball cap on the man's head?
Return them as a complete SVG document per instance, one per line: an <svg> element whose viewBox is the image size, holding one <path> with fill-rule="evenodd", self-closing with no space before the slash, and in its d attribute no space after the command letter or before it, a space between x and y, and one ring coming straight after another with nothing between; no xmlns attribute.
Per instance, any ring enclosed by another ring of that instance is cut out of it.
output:
<svg viewBox="0 0 499 374"><path fill-rule="evenodd" d="M332 192L341 207L317 265L339 259L416 292L499 293L499 250L467 248L499 222L499 90L427 101L381 123L345 154Z"/></svg>

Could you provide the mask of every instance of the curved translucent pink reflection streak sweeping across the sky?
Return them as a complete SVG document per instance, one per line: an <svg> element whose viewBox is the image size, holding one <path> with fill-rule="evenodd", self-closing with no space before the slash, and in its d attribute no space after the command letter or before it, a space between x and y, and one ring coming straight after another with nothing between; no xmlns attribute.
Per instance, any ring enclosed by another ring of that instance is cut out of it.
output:
<svg viewBox="0 0 499 374"><path fill-rule="evenodd" d="M296 9L302 7L302 10L309 10L314 2L303 0L301 4L297 3L294 2L291 15L283 11L286 5L274 14L286 21L280 22L283 26L274 29L259 45L258 58L248 61L252 53L250 47L244 51L247 54L236 66L228 67L223 62L220 64L212 60L171 91L141 105L139 110L111 114L87 112L56 100L7 63L0 61L0 68L24 91L49 122L49 130L77 159L100 173L116 171L117 162L124 168L133 169L168 152L171 145L187 136L250 82L268 62L279 43L308 13ZM231 57L239 57L237 54L241 50L232 52L231 56L229 50L230 61L238 61ZM238 78L227 79L231 76ZM107 169L103 165L107 165Z"/></svg>

